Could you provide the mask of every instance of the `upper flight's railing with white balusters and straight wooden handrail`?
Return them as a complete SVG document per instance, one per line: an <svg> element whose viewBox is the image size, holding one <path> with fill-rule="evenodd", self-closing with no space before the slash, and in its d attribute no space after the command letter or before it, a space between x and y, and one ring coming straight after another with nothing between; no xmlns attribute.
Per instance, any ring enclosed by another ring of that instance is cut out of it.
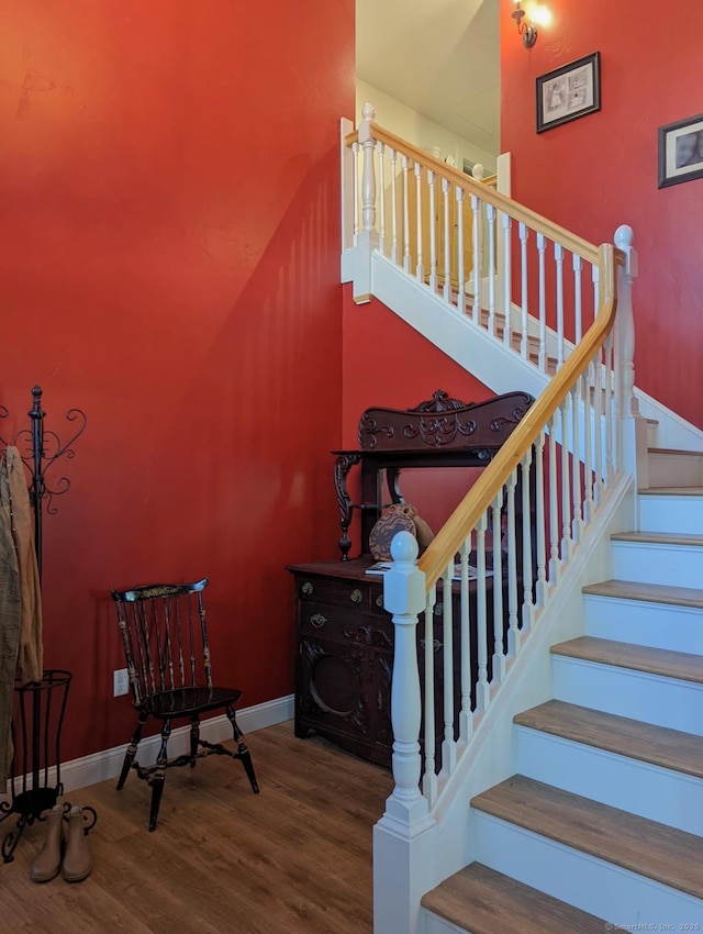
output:
<svg viewBox="0 0 703 934"><path fill-rule="evenodd" d="M380 254L505 347L554 374L600 303L594 245L372 122L345 132L343 277L373 293Z"/></svg>

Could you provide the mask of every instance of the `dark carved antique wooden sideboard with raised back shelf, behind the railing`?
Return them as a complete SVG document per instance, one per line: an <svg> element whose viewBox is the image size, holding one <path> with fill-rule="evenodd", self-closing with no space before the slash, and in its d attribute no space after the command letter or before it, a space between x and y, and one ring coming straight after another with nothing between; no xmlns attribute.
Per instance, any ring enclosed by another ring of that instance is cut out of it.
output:
<svg viewBox="0 0 703 934"><path fill-rule="evenodd" d="M432 400L405 411L368 409L359 421L359 449L333 452L334 480L342 536L337 561L292 565L295 586L297 663L295 735L309 732L334 741L371 761L390 765L392 732L390 689L393 624L383 609L382 576L367 574L373 564L369 536L384 501L402 503L400 475L413 467L484 466L532 404L523 392L507 393L479 404L449 399L437 390ZM361 502L354 503L346 479L361 471ZM520 502L520 498L516 498ZM349 558L348 535L354 510L361 513L360 555ZM476 638L476 582L470 585L471 644ZM490 582L489 582L490 588ZM454 620L459 620L458 585ZM489 632L493 630L488 594ZM507 605L506 599L503 604ZM442 598L435 604L435 689L442 691ZM417 626L419 652L424 653L424 615ZM492 635L490 636L492 638ZM472 675L478 659L471 658ZM455 672L458 690L458 671ZM442 708L437 705L438 718ZM442 724L436 724L442 735Z"/></svg>

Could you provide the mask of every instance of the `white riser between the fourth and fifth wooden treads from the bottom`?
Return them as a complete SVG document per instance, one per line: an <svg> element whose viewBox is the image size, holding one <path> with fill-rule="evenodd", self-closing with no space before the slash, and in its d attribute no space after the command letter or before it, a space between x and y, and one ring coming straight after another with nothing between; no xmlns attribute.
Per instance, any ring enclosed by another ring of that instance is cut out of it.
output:
<svg viewBox="0 0 703 934"><path fill-rule="evenodd" d="M703 609L583 594L585 634L703 655Z"/></svg>

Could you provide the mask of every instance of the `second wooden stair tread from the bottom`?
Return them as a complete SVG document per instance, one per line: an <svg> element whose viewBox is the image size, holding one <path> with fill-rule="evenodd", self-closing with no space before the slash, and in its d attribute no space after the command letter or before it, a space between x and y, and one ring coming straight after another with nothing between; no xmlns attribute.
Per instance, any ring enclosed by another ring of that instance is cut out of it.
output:
<svg viewBox="0 0 703 934"><path fill-rule="evenodd" d="M514 775L471 799L476 810L703 898L701 837Z"/></svg>

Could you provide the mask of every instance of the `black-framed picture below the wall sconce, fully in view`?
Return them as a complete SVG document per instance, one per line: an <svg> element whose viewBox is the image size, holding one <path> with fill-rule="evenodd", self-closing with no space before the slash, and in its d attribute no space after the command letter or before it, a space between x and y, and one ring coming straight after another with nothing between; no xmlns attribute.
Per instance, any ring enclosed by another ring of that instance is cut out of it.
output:
<svg viewBox="0 0 703 934"><path fill-rule="evenodd" d="M593 52L537 78L537 133L600 109L600 52Z"/></svg>

